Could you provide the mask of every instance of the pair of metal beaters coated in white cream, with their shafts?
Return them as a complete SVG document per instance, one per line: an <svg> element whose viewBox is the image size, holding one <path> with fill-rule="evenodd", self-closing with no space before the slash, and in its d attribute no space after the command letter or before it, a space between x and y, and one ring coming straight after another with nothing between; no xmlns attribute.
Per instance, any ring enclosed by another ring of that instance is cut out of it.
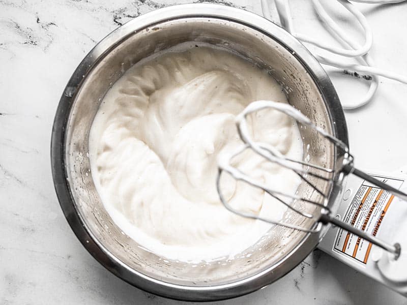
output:
<svg viewBox="0 0 407 305"><path fill-rule="evenodd" d="M278 111L281 111L285 113L286 115L294 118L301 126L306 126L311 128L311 130L315 131L317 134L323 136L325 139L330 141L335 147L335 150L340 150L341 151L341 158L339 158L339 163L341 164L336 164L333 168L325 168L323 166L319 166L316 164L312 164L307 161L300 161L300 160L293 160L290 158L287 158L286 156L282 155L275 147L271 146L270 144L264 143L264 142L256 142L251 139L250 132L247 126L247 117L254 112L263 110L263 109L275 109ZM251 104L249 104L243 112L241 112L237 117L236 117L236 125L238 128L239 136L242 139L243 143L241 147L239 147L234 153L230 155L224 155L220 154L219 160L218 160L218 176L217 176L217 181L216 181L216 187L217 191L219 194L219 198L222 202L222 204L231 212L234 212L237 215L240 215L242 217L246 218L251 218L251 219L259 219L261 221L265 221L271 224L287 227L287 228L292 228L295 230L300 230L304 232L309 232L309 233L318 233L321 231L322 226L324 224L332 223L344 230L347 230L355 235L358 235L361 238L366 239L367 241L372 242L374 245L379 246L380 248L389 251L395 255L397 258L400 254L400 246L398 243L395 245L390 245L387 242L384 242L383 240L376 238L375 236L369 235L365 233L362 230L356 229L355 227L344 223L337 218L331 216L331 210L328 206L328 197L330 192L333 189L334 184L340 184L344 175L347 174L354 174L362 179L365 179L372 184L376 185L377 187L382 188L385 191L388 191L389 193L398 196L402 198L403 200L407 200L407 195L404 194L403 192L400 192L399 190L385 184L384 182L377 180L370 175L366 174L363 171L360 171L356 169L353 166L353 156L349 153L349 148L345 143L340 141L339 139L335 138L334 136L330 135L328 132L325 130L315 126L311 120L306 117L304 114L302 114L300 111L295 109L294 107L285 104L285 103L277 103L277 102L272 102L272 101L256 101ZM281 192L279 190L273 189L270 186L266 186L262 184L261 182L257 181L256 179L253 179L240 169L234 167L231 165L231 160L235 158L236 156L240 155L245 151L246 149L251 149L254 151L256 154L260 155L261 157L265 158L265 160L268 160L270 162L279 164L280 166L290 169L294 171L301 179L308 185L310 186L316 193L317 196L313 196L311 198L306 198L305 196L301 196L298 194L287 194L284 192ZM294 224L282 222L282 221L275 221L271 219L266 219L263 217L259 217L255 214L252 214L250 212L238 210L234 207L232 207L228 201L225 199L225 197L222 194L221 191L221 185L220 185L220 177L222 172L225 171L229 175L231 175L234 179L238 181L243 181L246 182L247 184L251 185L254 188L261 189L277 199L279 202L282 204L286 205L289 209L293 210L296 212L300 217L308 218L314 220L314 225L312 226L311 229L297 226ZM325 188L318 188L316 187L315 183L312 181L317 180L323 180L325 182ZM315 199L316 198L316 199ZM302 201L306 204L312 204L314 206L320 207L321 212L319 212L317 215L312 215L307 212L301 211L299 208L296 208L293 205L293 202L295 201Z"/></svg>

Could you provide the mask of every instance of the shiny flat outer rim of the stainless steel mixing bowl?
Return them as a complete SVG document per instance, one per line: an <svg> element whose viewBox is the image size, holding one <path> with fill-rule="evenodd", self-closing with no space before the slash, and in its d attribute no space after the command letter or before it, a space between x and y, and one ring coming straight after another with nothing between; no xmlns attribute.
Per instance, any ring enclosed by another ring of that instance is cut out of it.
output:
<svg viewBox="0 0 407 305"><path fill-rule="evenodd" d="M233 283L206 287L167 283L130 268L97 240L75 207L65 167L67 122L76 93L84 80L82 76L87 75L111 49L135 32L164 21L197 17L223 19L251 27L290 51L318 87L331 121L336 122L332 125L334 135L348 145L346 121L335 88L315 57L296 38L268 19L243 9L216 4L185 4L158 9L128 21L108 34L84 57L68 81L55 113L51 135L51 170L57 198L71 229L84 248L107 270L137 288L160 296L188 301L211 301L245 295L271 284L303 261L316 247L321 236L306 234L297 247L287 253L278 264Z"/></svg>

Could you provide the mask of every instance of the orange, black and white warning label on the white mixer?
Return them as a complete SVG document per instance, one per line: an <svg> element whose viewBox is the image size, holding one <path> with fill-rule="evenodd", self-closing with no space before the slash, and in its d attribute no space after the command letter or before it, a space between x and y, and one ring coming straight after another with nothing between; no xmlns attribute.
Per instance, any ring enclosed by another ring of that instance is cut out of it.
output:
<svg viewBox="0 0 407 305"><path fill-rule="evenodd" d="M375 178L397 189L403 183L401 179L380 176L375 176ZM343 221L375 236L393 198L394 195L391 195L389 192L377 188L367 181L363 181L362 186L347 208ZM338 230L334 246L335 250L366 264L371 247L370 242L346 230Z"/></svg>

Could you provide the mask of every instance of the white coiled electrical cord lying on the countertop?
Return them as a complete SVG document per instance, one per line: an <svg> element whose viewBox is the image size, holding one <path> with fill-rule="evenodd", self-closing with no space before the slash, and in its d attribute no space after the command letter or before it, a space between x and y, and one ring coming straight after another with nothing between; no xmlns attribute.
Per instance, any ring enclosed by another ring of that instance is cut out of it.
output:
<svg viewBox="0 0 407 305"><path fill-rule="evenodd" d="M379 81L377 76L383 76L389 79L393 79L402 83L407 84L407 77L397 73L392 73L379 68L374 67L374 62L371 56L368 54L373 44L373 33L370 26L366 20L366 17L348 0L336 0L339 2L348 12L355 16L364 31L364 44L360 46L358 43L354 42L350 37L347 36L345 31L343 31L340 26L331 18L327 13L323 5L319 0L312 0L312 4L319 18L326 24L327 29L331 32L332 36L343 46L343 48L337 48L328 46L324 43L318 42L317 40L296 33L294 31L293 18L291 17L291 12L288 5L288 0L275 0L275 5L277 8L277 13L281 22L281 26L284 27L290 34L296 37L298 40L314 45L319 49L325 50L328 54L333 55L328 58L321 54L314 54L315 58L319 63L335 67L338 69L345 70L348 74L354 74L355 72L359 75L367 74L365 78L371 80L370 87L366 95L358 101L356 104L342 104L345 110L358 109L366 104L368 104L372 97L374 96ZM353 2L365 3L365 4L391 4L391 3L401 3L407 0L351 0ZM268 0L261 0L261 10L263 11L263 16L267 19L271 19L270 9ZM338 59L338 55L343 57L351 57L357 59L361 64L350 64L343 60ZM352 71L349 71L349 70Z"/></svg>

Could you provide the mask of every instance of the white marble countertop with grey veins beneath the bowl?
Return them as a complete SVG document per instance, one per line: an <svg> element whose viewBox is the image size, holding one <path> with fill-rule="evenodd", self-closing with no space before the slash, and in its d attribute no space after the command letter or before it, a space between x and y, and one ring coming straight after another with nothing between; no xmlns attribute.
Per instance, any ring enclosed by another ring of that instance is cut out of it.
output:
<svg viewBox="0 0 407 305"><path fill-rule="evenodd" d="M139 14L181 0L0 0L0 303L175 304L138 290L105 270L71 231L53 188L52 121L72 72L95 44ZM202 2L195 0L195 2ZM213 0L260 13L259 1ZM328 3L328 2L327 2ZM329 41L309 2L290 1L302 33ZM330 10L358 37L336 2ZM361 5L372 26L376 66L407 74L407 3ZM272 7L273 18L276 18ZM360 34L359 34L360 35ZM342 100L366 81L333 75ZM407 164L407 86L381 78L373 102L346 113L351 149L364 169ZM407 299L315 250L284 278L216 304L407 304Z"/></svg>

